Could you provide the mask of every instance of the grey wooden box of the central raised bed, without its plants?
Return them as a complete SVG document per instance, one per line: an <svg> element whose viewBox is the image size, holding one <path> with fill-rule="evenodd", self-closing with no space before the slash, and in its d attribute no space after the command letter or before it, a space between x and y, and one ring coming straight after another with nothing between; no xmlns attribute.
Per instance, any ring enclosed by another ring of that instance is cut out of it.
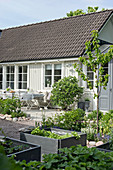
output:
<svg viewBox="0 0 113 170"><path fill-rule="evenodd" d="M66 134L71 133L70 130L63 130L63 129L57 129L57 128L47 128L45 130L50 130L52 132L55 132L57 134ZM27 133L20 133L20 139L23 141L35 143L38 145L41 145L41 152L42 154L48 154L48 153L59 153L58 149L64 148L64 147L71 147L81 144L82 146L86 146L86 134L83 134L81 132L78 132L80 135L80 139L76 140L75 137L69 137L65 139L52 139L47 138L43 136L38 135L32 135L30 134L31 131L27 131Z"/></svg>

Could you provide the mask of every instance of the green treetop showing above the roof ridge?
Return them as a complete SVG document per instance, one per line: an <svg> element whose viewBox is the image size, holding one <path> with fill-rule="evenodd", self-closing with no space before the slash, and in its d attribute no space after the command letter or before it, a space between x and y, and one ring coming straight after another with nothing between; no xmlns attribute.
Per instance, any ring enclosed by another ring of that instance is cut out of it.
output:
<svg viewBox="0 0 113 170"><path fill-rule="evenodd" d="M77 9L76 11L70 11L69 13L67 13L67 17L71 17L71 16L76 16L76 15L82 15L82 14L86 14L86 13L91 13L91 12L97 12L99 7L88 7L87 12L84 12L82 9ZM101 11L105 10L104 8L101 9Z"/></svg>

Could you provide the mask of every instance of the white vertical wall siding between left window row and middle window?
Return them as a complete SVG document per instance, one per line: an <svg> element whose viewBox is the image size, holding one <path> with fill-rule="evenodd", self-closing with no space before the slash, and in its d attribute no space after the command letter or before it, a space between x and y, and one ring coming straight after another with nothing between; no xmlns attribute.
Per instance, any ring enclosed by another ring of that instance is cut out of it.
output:
<svg viewBox="0 0 113 170"><path fill-rule="evenodd" d="M41 64L30 64L29 65L29 85L30 89L37 91L41 90Z"/></svg>

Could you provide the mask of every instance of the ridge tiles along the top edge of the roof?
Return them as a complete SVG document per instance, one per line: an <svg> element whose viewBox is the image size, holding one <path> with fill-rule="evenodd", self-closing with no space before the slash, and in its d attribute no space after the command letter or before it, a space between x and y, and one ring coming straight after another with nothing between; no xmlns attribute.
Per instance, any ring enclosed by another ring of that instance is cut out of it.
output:
<svg viewBox="0 0 113 170"><path fill-rule="evenodd" d="M1 30L4 31L4 30L16 29L16 28L23 28L23 27L28 27L28 26L33 26L33 25L38 25L38 24L43 24L43 23L50 23L50 22L56 22L56 21L61 21L61 20L67 20L67 19L71 19L71 18L78 18L78 17L86 16L86 15L93 15L93 14L107 12L107 11L113 12L113 9L106 9L104 11L80 14L80 15L76 15L76 16L64 17L64 18L59 18L59 19L54 19L54 20L49 20L49 21L41 21L41 22L37 22L37 23L26 24L26 25L21 25L21 26L15 26L15 27L5 28L5 29L1 29Z"/></svg>

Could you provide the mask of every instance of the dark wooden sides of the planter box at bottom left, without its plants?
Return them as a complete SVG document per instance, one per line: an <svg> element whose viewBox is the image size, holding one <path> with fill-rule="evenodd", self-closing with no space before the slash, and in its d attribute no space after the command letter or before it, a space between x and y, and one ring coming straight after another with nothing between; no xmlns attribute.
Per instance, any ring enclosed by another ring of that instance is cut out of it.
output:
<svg viewBox="0 0 113 170"><path fill-rule="evenodd" d="M0 138L3 139L3 137L0 137ZM13 154L9 154L7 155L8 157L11 157L12 155L16 155L14 159L16 159L17 161L26 160L26 162L34 161L34 160L37 160L37 161L41 160L41 147L40 146L31 144L30 142L24 142L24 141L20 141L20 140L9 138L9 137L6 137L6 140L11 140L14 146L18 146L18 145L27 146L27 149L13 153Z"/></svg>

